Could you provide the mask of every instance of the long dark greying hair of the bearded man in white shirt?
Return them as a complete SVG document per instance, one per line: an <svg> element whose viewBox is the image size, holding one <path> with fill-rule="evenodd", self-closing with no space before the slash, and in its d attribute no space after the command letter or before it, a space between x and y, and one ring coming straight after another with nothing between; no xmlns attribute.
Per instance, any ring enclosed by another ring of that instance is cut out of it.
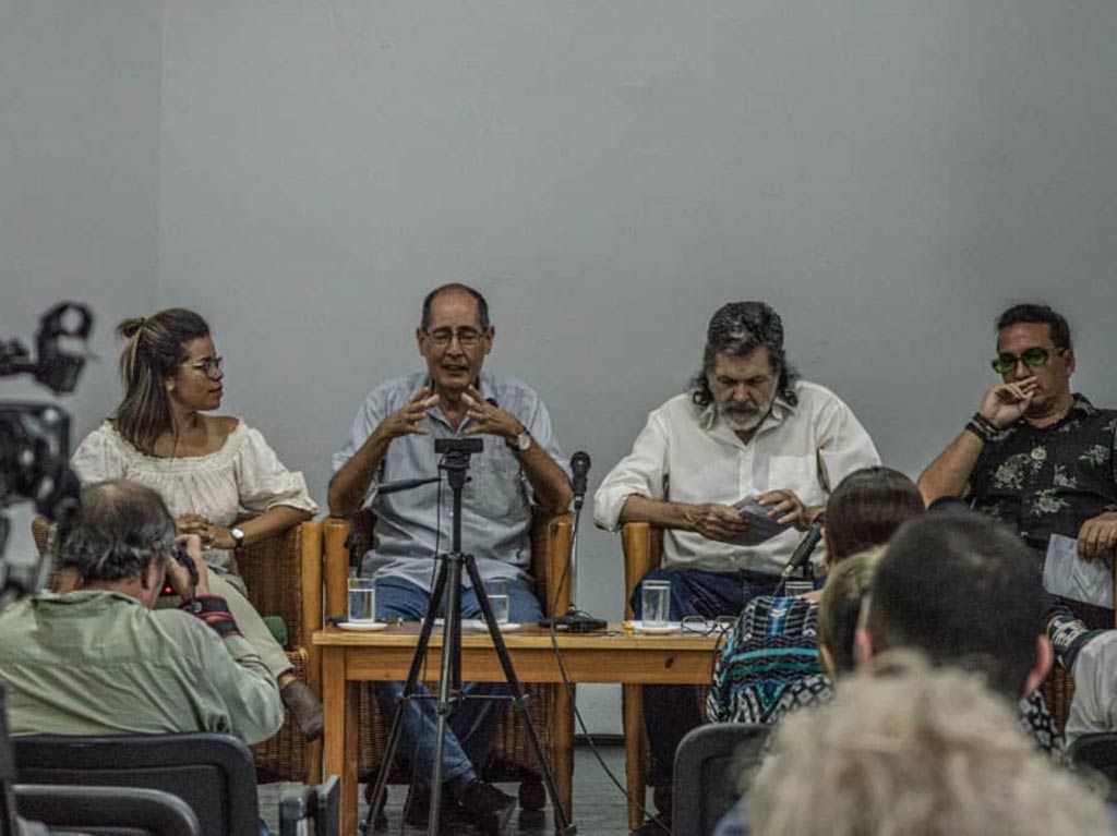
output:
<svg viewBox="0 0 1117 836"><path fill-rule="evenodd" d="M718 354L746 357L762 346L768 349L772 371L780 374L777 392L794 406L799 403L799 397L792 384L799 375L787 363L783 352L783 320L771 306L762 301L731 301L718 308L710 318L706 328L701 368L687 386L690 398L698 406L709 406L714 402L707 375L713 371L714 358Z"/></svg>

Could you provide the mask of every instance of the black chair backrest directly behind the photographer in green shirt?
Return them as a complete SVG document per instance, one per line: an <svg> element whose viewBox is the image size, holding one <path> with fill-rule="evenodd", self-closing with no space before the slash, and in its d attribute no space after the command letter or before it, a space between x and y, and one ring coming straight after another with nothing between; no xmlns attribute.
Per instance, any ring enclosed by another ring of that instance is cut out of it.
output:
<svg viewBox="0 0 1117 836"><path fill-rule="evenodd" d="M144 787L178 796L206 836L259 834L256 768L229 734L13 738L20 784Z"/></svg>

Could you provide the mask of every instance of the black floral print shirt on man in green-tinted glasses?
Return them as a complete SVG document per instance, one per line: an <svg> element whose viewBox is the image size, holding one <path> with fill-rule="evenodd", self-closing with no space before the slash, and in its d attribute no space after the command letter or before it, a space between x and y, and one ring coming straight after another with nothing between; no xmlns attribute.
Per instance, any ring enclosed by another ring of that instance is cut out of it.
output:
<svg viewBox="0 0 1117 836"><path fill-rule="evenodd" d="M970 499L1015 528L1040 558L1051 535L1077 538L1086 520L1117 511L1117 411L1076 393L1056 424L1018 421L985 445Z"/></svg>

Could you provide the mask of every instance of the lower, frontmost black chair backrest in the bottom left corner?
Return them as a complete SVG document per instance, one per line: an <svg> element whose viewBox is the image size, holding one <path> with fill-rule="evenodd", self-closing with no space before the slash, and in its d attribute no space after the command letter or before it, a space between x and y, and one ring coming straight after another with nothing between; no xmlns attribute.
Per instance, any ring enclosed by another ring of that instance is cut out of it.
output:
<svg viewBox="0 0 1117 836"><path fill-rule="evenodd" d="M133 787L44 787L17 784L19 815L89 836L203 836L198 817L181 798Z"/></svg>

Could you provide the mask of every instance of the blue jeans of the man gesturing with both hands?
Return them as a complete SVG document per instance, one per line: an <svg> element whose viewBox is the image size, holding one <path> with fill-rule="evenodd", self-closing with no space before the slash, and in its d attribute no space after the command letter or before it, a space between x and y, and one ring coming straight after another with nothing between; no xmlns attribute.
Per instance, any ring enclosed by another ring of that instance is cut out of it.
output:
<svg viewBox="0 0 1117 836"><path fill-rule="evenodd" d="M418 621L427 615L430 594L420 586L400 577L379 578L376 580L376 617L403 618ZM543 617L540 602L532 592L532 585L522 579L508 580L509 619L518 623L534 623ZM438 608L438 615L446 615L446 602ZM477 603L477 594L470 589L461 590L461 617L479 618L481 608ZM487 696L510 694L512 690L503 683L464 683L462 690L468 696ZM403 693L402 682L378 682L376 696L393 708ZM417 694L426 694L427 690L419 683ZM458 703L447 722L446 742L442 747L442 781L461 778L470 771L478 771L488 760L493 748L493 732L500 717L503 703L499 700L468 699ZM419 784L427 784L435 758L435 740L438 731L438 717L435 713L435 701L430 699L412 700L403 712L403 730L400 738L400 752L410 760Z"/></svg>

